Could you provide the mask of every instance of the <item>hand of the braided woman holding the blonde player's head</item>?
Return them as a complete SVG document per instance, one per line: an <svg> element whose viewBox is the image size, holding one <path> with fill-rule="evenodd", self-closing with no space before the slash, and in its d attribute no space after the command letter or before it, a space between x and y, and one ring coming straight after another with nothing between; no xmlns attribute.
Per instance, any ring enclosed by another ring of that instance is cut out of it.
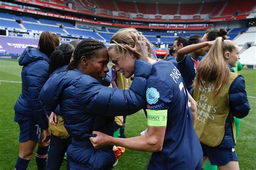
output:
<svg viewBox="0 0 256 170"><path fill-rule="evenodd" d="M132 48L129 45L124 45L131 53L133 53L138 59L147 61L149 59L147 55L146 39L140 34L131 32L131 37L135 42L135 46Z"/></svg>

